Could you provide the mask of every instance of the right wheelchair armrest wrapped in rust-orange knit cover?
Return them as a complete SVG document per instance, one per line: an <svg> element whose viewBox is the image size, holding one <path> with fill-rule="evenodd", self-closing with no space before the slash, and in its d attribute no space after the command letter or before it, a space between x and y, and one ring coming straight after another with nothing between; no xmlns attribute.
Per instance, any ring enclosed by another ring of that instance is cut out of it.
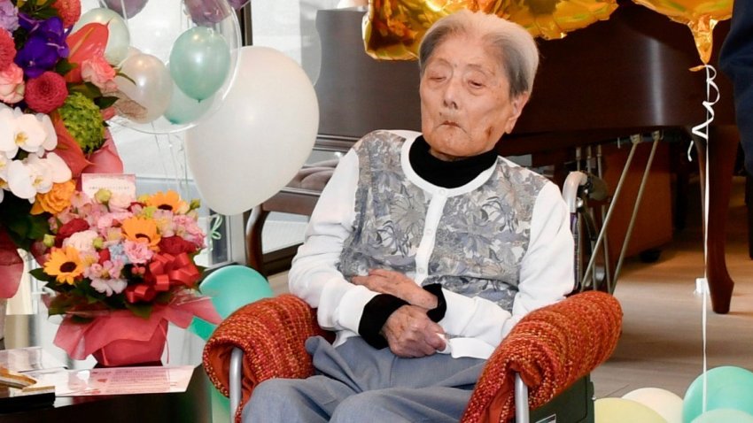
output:
<svg viewBox="0 0 753 423"><path fill-rule="evenodd" d="M601 291L531 311L489 358L462 421L513 418L516 373L531 409L547 403L611 356L621 327L617 299Z"/></svg>

